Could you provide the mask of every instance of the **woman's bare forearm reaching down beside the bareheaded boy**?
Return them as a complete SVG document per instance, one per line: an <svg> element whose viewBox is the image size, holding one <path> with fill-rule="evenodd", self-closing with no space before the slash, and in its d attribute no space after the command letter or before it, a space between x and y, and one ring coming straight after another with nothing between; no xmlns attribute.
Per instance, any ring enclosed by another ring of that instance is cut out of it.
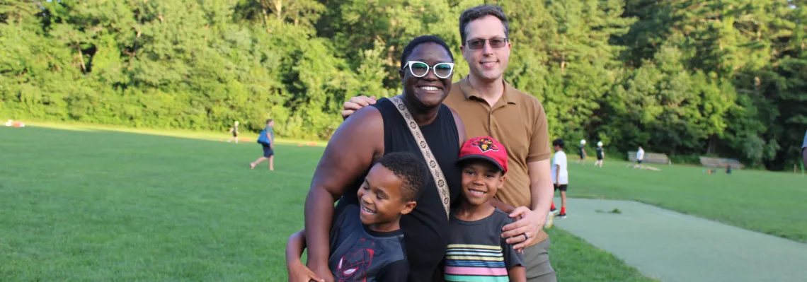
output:
<svg viewBox="0 0 807 282"><path fill-rule="evenodd" d="M306 265L314 272L328 267L328 240L333 217L333 197L321 189L312 189L305 203L305 240L308 247Z"/></svg>

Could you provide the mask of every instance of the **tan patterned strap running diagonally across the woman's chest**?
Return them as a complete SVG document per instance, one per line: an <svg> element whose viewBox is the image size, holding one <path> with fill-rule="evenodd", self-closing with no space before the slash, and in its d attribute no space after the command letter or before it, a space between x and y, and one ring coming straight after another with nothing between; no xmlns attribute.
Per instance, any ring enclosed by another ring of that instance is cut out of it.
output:
<svg viewBox="0 0 807 282"><path fill-rule="evenodd" d="M426 159L426 163L429 164L429 170L432 171L432 176L434 177L434 182L437 185L437 193L440 193L440 198L443 202L443 208L445 208L445 217L449 217L449 187L448 184L445 182L445 176L443 176L443 171L440 169L440 165L437 164L437 160L434 159L432 155L432 150L429 148L429 144L426 143L426 139L423 137L423 133L420 132L420 127L417 126L417 122L415 119L412 118L412 114L409 113L409 110L403 105L403 101L401 100L400 96L391 97L390 101L395 104L395 108L398 109L398 112L403 116L403 119L406 120L407 127L409 127L409 131L412 131L412 136L415 137L415 141L420 147L420 152L423 153L424 158Z"/></svg>

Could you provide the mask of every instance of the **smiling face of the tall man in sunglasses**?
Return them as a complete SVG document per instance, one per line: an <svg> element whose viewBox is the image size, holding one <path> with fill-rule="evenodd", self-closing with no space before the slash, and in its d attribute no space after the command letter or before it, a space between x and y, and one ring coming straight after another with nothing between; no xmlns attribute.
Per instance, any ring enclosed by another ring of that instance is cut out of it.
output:
<svg viewBox="0 0 807 282"><path fill-rule="evenodd" d="M502 77L510 60L510 42L501 48L491 47L491 42L484 42L483 47L471 49L469 41L476 39L506 39L504 24L499 18L487 15L468 23L465 29L466 41L460 46L462 56L468 62L470 75L481 81L495 81Z"/></svg>

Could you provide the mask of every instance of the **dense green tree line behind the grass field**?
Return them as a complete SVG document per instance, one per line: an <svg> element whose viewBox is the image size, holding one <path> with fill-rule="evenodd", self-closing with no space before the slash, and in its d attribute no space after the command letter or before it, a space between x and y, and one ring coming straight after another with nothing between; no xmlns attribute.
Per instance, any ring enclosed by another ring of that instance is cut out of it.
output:
<svg viewBox="0 0 807 282"><path fill-rule="evenodd" d="M506 79L552 136L783 169L807 129L807 10L787 0L0 0L0 116L327 139L341 103L399 93L400 52L483 2ZM592 142L593 143L593 142Z"/></svg>

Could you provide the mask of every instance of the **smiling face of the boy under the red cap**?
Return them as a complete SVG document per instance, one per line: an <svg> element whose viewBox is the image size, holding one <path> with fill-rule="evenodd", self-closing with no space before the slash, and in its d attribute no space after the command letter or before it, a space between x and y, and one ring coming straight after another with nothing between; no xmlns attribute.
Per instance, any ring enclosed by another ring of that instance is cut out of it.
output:
<svg viewBox="0 0 807 282"><path fill-rule="evenodd" d="M490 162L466 161L462 164L462 196L470 205L484 205L502 188L505 177Z"/></svg>

